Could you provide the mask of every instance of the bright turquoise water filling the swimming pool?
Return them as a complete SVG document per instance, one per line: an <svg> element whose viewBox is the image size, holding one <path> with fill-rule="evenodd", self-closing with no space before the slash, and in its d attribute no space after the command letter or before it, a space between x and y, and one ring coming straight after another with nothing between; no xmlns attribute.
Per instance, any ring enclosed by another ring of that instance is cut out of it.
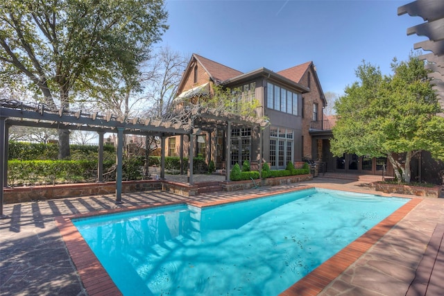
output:
<svg viewBox="0 0 444 296"><path fill-rule="evenodd" d="M124 295L278 295L406 202L307 189L73 222Z"/></svg>

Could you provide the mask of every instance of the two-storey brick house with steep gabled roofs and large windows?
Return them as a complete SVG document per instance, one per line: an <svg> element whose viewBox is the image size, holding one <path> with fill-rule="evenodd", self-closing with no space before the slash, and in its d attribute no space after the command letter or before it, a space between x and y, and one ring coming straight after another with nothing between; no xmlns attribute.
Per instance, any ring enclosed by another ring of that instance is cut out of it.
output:
<svg viewBox="0 0 444 296"><path fill-rule="evenodd" d="M214 85L241 89L242 99L258 100L257 115L267 116L270 121L264 130L248 127L231 130L230 167L245 160L253 165L261 155L273 169L317 157L318 142L312 141L309 126L311 121L323 121L326 101L313 62L278 72L262 67L242 73L193 54L180 81L178 97L211 95ZM166 155L179 155L178 138L167 139ZM224 128L202 132L196 137L194 156L205 157L207 162L213 160L218 169L225 168L226 139ZM187 142L182 143L187 151Z"/></svg>

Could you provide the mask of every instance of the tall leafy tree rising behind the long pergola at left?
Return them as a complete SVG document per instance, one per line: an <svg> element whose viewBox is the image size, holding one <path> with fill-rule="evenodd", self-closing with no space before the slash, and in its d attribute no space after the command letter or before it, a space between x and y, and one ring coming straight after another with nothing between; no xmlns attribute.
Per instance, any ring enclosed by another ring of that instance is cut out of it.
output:
<svg viewBox="0 0 444 296"><path fill-rule="evenodd" d="M0 4L0 77L28 88L51 108L74 101L71 92L115 82L128 85L151 44L167 30L162 0L6 0ZM59 130L59 157L69 156L69 131Z"/></svg>

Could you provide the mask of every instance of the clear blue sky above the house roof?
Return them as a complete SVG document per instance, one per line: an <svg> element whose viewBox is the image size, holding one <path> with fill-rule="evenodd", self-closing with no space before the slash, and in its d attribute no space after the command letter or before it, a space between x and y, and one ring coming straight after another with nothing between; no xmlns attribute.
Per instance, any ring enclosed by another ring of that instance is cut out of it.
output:
<svg viewBox="0 0 444 296"><path fill-rule="evenodd" d="M394 57L407 60L407 36L424 22L401 15L413 0L167 0L169 30L162 46L197 53L242 72L260 67L280 71L313 61L324 92L343 94L357 80L362 60L390 74Z"/></svg>

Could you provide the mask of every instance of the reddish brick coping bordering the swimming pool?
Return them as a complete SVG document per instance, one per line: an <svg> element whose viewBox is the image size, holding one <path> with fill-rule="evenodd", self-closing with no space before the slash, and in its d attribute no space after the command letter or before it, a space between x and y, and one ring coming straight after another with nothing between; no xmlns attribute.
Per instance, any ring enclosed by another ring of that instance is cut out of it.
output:
<svg viewBox="0 0 444 296"><path fill-rule="evenodd" d="M230 200L216 200L209 202L198 202L196 200L183 200L180 202L154 202L137 207L123 207L118 209L110 209L103 211L90 212L87 214L76 214L69 216L56 217L56 223L63 241L67 247L71 260L76 266L78 275L85 286L88 295L122 295L121 291L112 281L111 277L101 265L92 250L89 248L80 232L71 222L71 219L86 218L91 216L98 216L103 214L120 213L123 211L132 211L135 209L148 209L152 207L159 207L171 204L191 204L196 207L208 207L212 205L225 204L228 202L238 202L243 200L250 200L254 198L264 198L270 195L280 193L289 193L292 191L300 191L303 189L315 188L314 186L299 186L296 189L284 189L280 191L273 191L262 194L248 194L242 198L232 198ZM359 192L359 191L357 191ZM284 290L280 295L318 295L331 281L336 279L345 269L354 263L359 257L367 252L377 241L379 241L384 234L386 234L393 226L395 226L405 215L409 213L416 205L421 202L421 198L411 198L409 202L402 205L399 209L393 212L390 216L368 230L365 234L357 238L355 241L344 247L341 251L336 253L330 259L311 271L308 275L300 279Z"/></svg>

